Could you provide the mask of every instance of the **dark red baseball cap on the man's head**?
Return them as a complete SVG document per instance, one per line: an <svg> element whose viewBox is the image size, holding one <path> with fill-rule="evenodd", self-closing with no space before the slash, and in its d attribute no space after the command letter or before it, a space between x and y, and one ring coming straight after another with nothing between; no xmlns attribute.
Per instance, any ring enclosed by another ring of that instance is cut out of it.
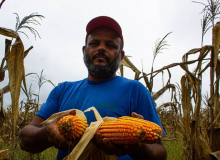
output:
<svg viewBox="0 0 220 160"><path fill-rule="evenodd" d="M122 30L118 22L116 22L113 18L107 17L107 16L99 16L96 18L93 18L86 26L86 37L89 35L89 33L98 27L109 27L113 30L115 30L119 37L122 40L122 43L124 45Z"/></svg>

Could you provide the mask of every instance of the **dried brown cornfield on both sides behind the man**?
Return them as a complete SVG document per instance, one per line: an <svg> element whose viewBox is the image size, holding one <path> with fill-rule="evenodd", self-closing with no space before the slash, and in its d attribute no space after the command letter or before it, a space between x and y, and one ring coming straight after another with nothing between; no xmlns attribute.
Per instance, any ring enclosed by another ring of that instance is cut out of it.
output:
<svg viewBox="0 0 220 160"><path fill-rule="evenodd" d="M156 105L166 133L166 137L162 139L162 143L168 152L167 159L220 159L220 22L215 23L215 20L218 18L217 16L220 14L220 4L218 0L208 0L208 5L200 4L204 5L202 11L204 16L201 23L201 48L194 48L183 54L182 62L168 64L161 69L154 70L154 60L168 46L166 38L171 34L170 32L162 39L158 39L155 43L150 73L145 73L143 69L140 71L128 56L124 57L120 66L121 76L125 76L124 67L128 67L134 72L134 80L144 80L145 86L152 94L154 101L166 91L171 93L170 101L160 106ZM5 57L2 60L0 69L1 82L4 81L5 72L8 71L9 73L9 84L0 89L0 159L16 159L15 151L19 150L19 131L31 121L42 105L39 103L40 88L45 82L49 82L55 86L43 76L43 70L40 76L36 73L25 75L24 58L33 46L24 50L24 45L18 33L24 27L25 23L36 17L43 18L42 15L33 13L20 22L17 15L15 31L0 27L1 35L15 39L13 44L12 40L5 40ZM36 19L34 20L36 24L39 23ZM35 35L35 38L39 36L34 28L28 27L28 29ZM204 45L204 35L209 29L212 29L212 45ZM198 55L198 58L188 60L190 55ZM189 69L191 64L196 66L194 70ZM204 66L203 64L206 65ZM172 67L181 67L185 73L182 75L179 84L170 83L172 77L170 68ZM160 90L153 92L154 78L159 73L163 74L164 71L168 73L168 80ZM202 78L205 71L208 71L210 74L210 84L206 84L210 87L207 95L202 94L202 85L205 85ZM32 97L31 86L29 90L26 86L26 77L29 75L36 75L35 78L39 85L39 92L36 95L36 99ZM21 89L27 99L26 101L19 102ZM3 98L4 94L8 92L11 94L11 105L5 107ZM10 148L3 147L2 144L6 144L6 142ZM56 149L52 150L54 155L56 155ZM43 156L25 152L24 154L25 159L29 157L31 159L45 158L43 154Z"/></svg>

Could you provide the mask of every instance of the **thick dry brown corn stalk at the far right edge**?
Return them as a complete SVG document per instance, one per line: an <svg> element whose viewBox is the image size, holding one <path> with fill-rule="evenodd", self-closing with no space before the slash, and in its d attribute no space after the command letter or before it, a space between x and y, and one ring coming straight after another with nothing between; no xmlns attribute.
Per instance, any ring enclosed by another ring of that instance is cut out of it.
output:
<svg viewBox="0 0 220 160"><path fill-rule="evenodd" d="M220 112L219 105L219 75L220 75L220 61L219 55L219 44L220 44L220 22L218 22L213 28L213 49L211 52L210 60L210 146L213 152L220 151L220 119L218 114ZM216 75L217 83L214 85L214 75Z"/></svg>

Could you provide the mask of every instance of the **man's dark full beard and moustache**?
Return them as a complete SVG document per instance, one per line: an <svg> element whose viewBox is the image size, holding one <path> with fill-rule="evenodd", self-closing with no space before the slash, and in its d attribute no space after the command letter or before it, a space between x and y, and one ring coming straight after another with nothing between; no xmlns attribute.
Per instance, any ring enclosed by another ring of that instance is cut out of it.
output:
<svg viewBox="0 0 220 160"><path fill-rule="evenodd" d="M105 60L108 62L108 64L107 65L93 64L92 61L97 56L102 56L103 58L105 58ZM113 76L115 74L115 72L118 70L118 68L121 64L121 53L119 53L118 56L115 57L115 59L112 62L110 62L109 57L106 56L106 54L103 52L98 52L98 53L94 54L92 56L92 58L90 59L90 57L88 56L86 51L84 51L83 60L84 60L84 63L88 69L89 74L93 78L106 79L106 78L110 78L111 76Z"/></svg>

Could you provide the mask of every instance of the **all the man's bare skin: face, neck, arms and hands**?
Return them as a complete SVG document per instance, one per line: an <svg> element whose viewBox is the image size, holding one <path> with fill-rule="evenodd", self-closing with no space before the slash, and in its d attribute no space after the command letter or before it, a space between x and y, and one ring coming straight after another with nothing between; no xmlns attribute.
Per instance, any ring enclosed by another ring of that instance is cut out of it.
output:
<svg viewBox="0 0 220 160"><path fill-rule="evenodd" d="M86 46L83 47L83 53L87 53L90 58L99 51L105 53L112 62L118 54L121 54L121 59L124 57L124 51L121 51L122 41L115 31L109 28L97 28L92 31L87 37ZM106 65L109 62L99 56L92 61L96 65ZM116 76L116 73L112 77ZM110 77L111 78L111 77ZM91 81L100 81L88 74L88 79ZM74 112L68 113L75 115ZM67 115L68 115L67 114ZM142 115L132 113L132 117L144 119ZM41 123L45 120L40 116L35 116L31 123L24 127L20 133L20 146L23 150L31 153L39 153L45 149L54 146L63 151L71 150L75 147L78 140L69 141L60 135L57 123L63 116L55 119L47 126L42 126ZM138 143L129 146L119 146L113 144L107 138L101 137L100 133L96 133L92 139L97 148L102 149L107 155L123 156L129 154L133 159L166 159L166 150L160 143L144 144Z"/></svg>

